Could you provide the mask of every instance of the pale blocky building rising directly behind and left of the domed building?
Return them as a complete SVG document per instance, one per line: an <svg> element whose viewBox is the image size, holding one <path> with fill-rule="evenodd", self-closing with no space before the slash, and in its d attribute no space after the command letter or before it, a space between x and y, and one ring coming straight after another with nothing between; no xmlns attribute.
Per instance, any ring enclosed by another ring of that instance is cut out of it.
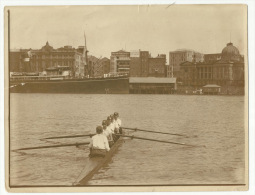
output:
<svg viewBox="0 0 255 195"><path fill-rule="evenodd" d="M169 52L170 74L179 78L180 64L183 62L203 62L204 54L187 49L179 49Z"/></svg>

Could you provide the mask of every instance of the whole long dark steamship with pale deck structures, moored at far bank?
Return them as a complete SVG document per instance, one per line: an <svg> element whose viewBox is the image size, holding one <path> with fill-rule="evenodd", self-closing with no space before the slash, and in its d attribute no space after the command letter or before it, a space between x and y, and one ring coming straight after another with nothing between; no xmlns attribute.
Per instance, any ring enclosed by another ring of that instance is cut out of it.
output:
<svg viewBox="0 0 255 195"><path fill-rule="evenodd" d="M48 72L61 75L38 73L11 73L10 93L74 93L74 94L128 94L129 77L126 74L105 74L102 77L73 78L69 67L48 68Z"/></svg>

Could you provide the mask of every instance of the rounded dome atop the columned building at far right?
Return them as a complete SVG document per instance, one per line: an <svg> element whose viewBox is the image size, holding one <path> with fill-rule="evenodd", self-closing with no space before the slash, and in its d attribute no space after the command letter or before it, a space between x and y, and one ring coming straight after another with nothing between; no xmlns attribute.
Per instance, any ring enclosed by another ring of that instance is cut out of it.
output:
<svg viewBox="0 0 255 195"><path fill-rule="evenodd" d="M239 50L230 42L223 48L221 59L224 61L240 61L241 55L239 54Z"/></svg>

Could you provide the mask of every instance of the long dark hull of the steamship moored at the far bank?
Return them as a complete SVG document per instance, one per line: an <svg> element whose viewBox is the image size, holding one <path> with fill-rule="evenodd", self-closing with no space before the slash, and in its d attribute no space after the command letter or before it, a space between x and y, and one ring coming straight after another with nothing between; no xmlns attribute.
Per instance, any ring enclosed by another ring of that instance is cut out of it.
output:
<svg viewBox="0 0 255 195"><path fill-rule="evenodd" d="M129 79L67 79L10 81L11 93L128 94Z"/></svg>

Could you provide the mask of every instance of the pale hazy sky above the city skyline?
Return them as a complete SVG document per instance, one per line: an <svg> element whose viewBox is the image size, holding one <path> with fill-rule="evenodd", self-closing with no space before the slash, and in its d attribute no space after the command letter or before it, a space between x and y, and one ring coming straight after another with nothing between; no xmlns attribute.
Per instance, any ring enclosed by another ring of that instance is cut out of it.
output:
<svg viewBox="0 0 255 195"><path fill-rule="evenodd" d="M90 55L120 49L152 56L188 48L220 53L230 41L243 54L246 7L242 5L12 7L11 49L84 45Z"/></svg>

